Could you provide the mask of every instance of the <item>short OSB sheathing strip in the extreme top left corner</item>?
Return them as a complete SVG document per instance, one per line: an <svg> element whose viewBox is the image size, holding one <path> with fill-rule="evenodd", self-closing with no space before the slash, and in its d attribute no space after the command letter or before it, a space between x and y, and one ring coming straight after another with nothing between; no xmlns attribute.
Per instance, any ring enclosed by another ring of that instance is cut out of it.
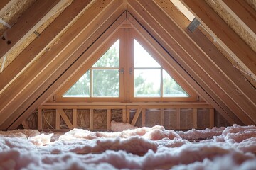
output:
<svg viewBox="0 0 256 170"><path fill-rule="evenodd" d="M13 26L14 23L18 20L18 17L22 15L30 6L32 6L36 0L18 0L12 4L6 11L1 14L0 18L8 23L10 26ZM0 36L8 29L7 26L4 26L3 23L0 23Z"/></svg>

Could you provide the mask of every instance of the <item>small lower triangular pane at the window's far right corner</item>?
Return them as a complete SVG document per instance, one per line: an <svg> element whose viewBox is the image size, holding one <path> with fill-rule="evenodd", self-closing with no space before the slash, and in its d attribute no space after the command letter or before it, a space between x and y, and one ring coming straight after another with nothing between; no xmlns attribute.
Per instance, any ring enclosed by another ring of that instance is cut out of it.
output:
<svg viewBox="0 0 256 170"><path fill-rule="evenodd" d="M163 96L164 97L188 97L182 87L163 70Z"/></svg>

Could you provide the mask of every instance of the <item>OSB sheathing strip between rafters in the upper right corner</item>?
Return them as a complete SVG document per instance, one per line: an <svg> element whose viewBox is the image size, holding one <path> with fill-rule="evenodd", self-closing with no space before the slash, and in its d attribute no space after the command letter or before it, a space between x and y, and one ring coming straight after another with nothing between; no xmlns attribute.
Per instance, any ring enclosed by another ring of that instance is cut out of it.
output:
<svg viewBox="0 0 256 170"><path fill-rule="evenodd" d="M218 13L220 18L223 18L223 21L232 28L235 33L237 33L242 40L244 40L247 45L249 45L252 50L256 52L256 35L255 33L249 33L239 21L237 21L234 16L229 13L224 6L220 4L219 1L215 0L206 0L206 3L213 8L213 10Z"/></svg>

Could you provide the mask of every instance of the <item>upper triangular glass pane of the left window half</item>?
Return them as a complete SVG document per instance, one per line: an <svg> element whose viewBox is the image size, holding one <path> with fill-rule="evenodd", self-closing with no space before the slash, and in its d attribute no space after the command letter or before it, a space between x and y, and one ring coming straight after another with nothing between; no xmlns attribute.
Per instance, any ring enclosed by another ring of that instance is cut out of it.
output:
<svg viewBox="0 0 256 170"><path fill-rule="evenodd" d="M119 67L119 40L92 67Z"/></svg>

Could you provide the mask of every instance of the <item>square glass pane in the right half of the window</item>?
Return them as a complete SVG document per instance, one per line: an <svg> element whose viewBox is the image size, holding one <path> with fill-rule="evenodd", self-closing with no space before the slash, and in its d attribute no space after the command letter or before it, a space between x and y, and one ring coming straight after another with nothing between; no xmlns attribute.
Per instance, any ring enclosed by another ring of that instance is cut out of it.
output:
<svg viewBox="0 0 256 170"><path fill-rule="evenodd" d="M160 97L160 69L134 69L134 96Z"/></svg>

